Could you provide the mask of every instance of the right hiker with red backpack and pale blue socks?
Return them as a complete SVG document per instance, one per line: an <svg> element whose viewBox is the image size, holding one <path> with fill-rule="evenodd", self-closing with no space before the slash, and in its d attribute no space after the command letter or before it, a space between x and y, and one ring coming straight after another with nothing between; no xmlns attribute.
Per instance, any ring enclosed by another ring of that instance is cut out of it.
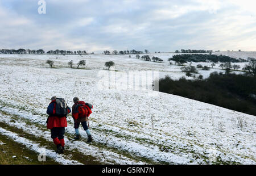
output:
<svg viewBox="0 0 256 176"><path fill-rule="evenodd" d="M72 106L72 117L74 119L75 123L75 132L76 132L76 137L75 140L80 140L80 133L79 133L79 125L80 123L82 124L82 127L84 128L87 136L88 136L88 143L92 142L92 135L90 133L89 129L89 116L92 114L92 104L85 103L83 101L80 101L79 98L75 97L73 98L73 104ZM88 125L86 123L88 121Z"/></svg>

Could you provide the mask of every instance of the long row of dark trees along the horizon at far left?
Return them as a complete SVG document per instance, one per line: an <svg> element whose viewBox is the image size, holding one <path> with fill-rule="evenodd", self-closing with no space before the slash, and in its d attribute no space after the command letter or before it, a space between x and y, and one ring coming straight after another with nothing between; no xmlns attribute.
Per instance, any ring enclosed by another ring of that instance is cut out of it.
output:
<svg viewBox="0 0 256 176"><path fill-rule="evenodd" d="M86 51L66 51L66 50L50 50L45 52L43 49L0 49L0 54L3 55L87 55ZM94 52L92 52L94 54Z"/></svg>

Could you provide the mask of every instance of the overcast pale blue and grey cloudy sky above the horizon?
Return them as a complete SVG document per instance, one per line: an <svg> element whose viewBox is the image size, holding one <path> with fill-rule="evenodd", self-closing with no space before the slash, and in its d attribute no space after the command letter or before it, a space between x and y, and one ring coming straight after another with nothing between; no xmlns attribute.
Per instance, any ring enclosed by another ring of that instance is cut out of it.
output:
<svg viewBox="0 0 256 176"><path fill-rule="evenodd" d="M249 0L0 0L0 48L256 51Z"/></svg>

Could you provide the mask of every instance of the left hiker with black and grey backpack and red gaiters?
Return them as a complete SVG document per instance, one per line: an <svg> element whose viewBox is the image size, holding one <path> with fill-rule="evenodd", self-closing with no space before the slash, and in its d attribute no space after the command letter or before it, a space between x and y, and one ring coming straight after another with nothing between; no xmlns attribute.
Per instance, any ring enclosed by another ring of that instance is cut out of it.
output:
<svg viewBox="0 0 256 176"><path fill-rule="evenodd" d="M64 152L64 133L65 127L68 127L67 116L71 112L71 109L67 106L63 98L54 96L51 100L51 103L47 107L47 114L49 115L46 121L47 129L51 129L51 138L57 146L57 153L61 154Z"/></svg>

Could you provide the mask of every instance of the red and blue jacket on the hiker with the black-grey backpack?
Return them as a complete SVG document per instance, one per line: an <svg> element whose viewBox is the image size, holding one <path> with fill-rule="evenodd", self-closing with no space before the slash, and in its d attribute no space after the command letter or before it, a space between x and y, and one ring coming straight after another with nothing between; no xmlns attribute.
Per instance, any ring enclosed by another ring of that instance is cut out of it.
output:
<svg viewBox="0 0 256 176"><path fill-rule="evenodd" d="M71 112L71 109L68 107L68 113L70 112ZM55 113L56 113L56 100L53 100L51 103L49 103L49 106L47 108L47 114L49 115L49 118L47 120L47 129L68 127L66 117L59 118L57 116L54 116Z"/></svg>

